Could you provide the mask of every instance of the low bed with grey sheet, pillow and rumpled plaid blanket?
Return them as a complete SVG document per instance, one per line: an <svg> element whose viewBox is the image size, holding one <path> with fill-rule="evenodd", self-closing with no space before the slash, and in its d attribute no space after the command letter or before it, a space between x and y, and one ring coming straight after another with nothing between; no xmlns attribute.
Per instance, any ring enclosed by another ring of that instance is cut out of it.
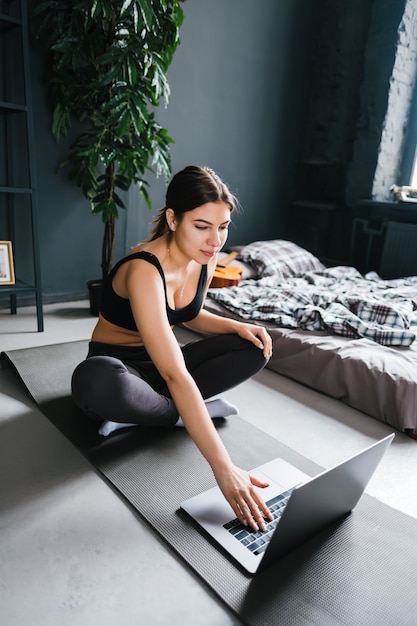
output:
<svg viewBox="0 0 417 626"><path fill-rule="evenodd" d="M205 307L266 326L268 367L399 431L417 434L417 277L326 267L285 240L238 247L239 285Z"/></svg>

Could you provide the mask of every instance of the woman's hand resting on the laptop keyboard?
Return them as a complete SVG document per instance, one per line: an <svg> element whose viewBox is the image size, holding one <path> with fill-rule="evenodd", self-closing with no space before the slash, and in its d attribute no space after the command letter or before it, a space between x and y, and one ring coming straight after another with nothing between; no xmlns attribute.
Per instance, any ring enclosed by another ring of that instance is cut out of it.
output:
<svg viewBox="0 0 417 626"><path fill-rule="evenodd" d="M217 484L238 520L253 530L265 530L265 519L273 518L256 487L265 488L269 486L268 483L236 465L213 471Z"/></svg>

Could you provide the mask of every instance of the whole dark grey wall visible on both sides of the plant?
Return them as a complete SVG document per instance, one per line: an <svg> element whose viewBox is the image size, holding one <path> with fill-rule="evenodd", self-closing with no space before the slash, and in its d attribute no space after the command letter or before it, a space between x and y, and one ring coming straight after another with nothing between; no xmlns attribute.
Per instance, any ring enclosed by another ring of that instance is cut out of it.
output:
<svg viewBox="0 0 417 626"><path fill-rule="evenodd" d="M176 143L173 171L214 168L242 204L230 243L282 236L297 153L309 0L188 0L181 46L169 72L171 101L158 110ZM86 295L100 275L102 224L57 165L70 139L55 143L33 57L42 283L45 301ZM147 237L164 204L165 181L150 178L154 211L132 189L117 223L116 257Z"/></svg>

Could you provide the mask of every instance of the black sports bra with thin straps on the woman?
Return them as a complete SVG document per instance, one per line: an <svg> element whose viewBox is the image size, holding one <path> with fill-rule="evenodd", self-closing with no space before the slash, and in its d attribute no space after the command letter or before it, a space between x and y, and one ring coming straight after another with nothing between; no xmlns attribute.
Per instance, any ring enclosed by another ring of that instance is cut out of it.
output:
<svg viewBox="0 0 417 626"><path fill-rule="evenodd" d="M123 265L123 263L131 261L132 259L143 259L144 261L148 261L149 263L154 265L160 273L162 282L164 284L168 321L171 326L174 326L175 324L182 324L183 322L189 322L199 314L203 304L204 293L206 290L207 265L203 265L201 267L201 274L198 281L197 292L192 302L190 302L190 304L187 304L187 306L182 309L171 309L171 307L168 305L165 275L161 264L154 254L152 254L151 252L145 252L143 250L141 252L135 252L135 254L131 254L121 259L118 263L116 263L116 265L113 267L110 274L108 275L107 279L105 280L100 306L100 313L104 317L104 319L106 319L108 322L111 322L112 324L115 324L116 326L126 328L127 330L138 330L133 317L129 299L118 296L113 289L113 278L117 270L121 265Z"/></svg>

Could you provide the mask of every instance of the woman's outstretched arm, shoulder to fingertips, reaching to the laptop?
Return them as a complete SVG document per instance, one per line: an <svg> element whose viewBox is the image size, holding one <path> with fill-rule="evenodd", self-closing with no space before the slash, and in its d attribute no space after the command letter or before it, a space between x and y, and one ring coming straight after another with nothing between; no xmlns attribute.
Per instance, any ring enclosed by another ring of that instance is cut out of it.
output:
<svg viewBox="0 0 417 626"><path fill-rule="evenodd" d="M262 528L264 516L270 518L270 512L256 487L266 487L266 483L249 476L231 461L169 325L158 271L144 261L134 261L129 266L126 286L137 327L188 433L209 463L236 517L253 528Z"/></svg>

